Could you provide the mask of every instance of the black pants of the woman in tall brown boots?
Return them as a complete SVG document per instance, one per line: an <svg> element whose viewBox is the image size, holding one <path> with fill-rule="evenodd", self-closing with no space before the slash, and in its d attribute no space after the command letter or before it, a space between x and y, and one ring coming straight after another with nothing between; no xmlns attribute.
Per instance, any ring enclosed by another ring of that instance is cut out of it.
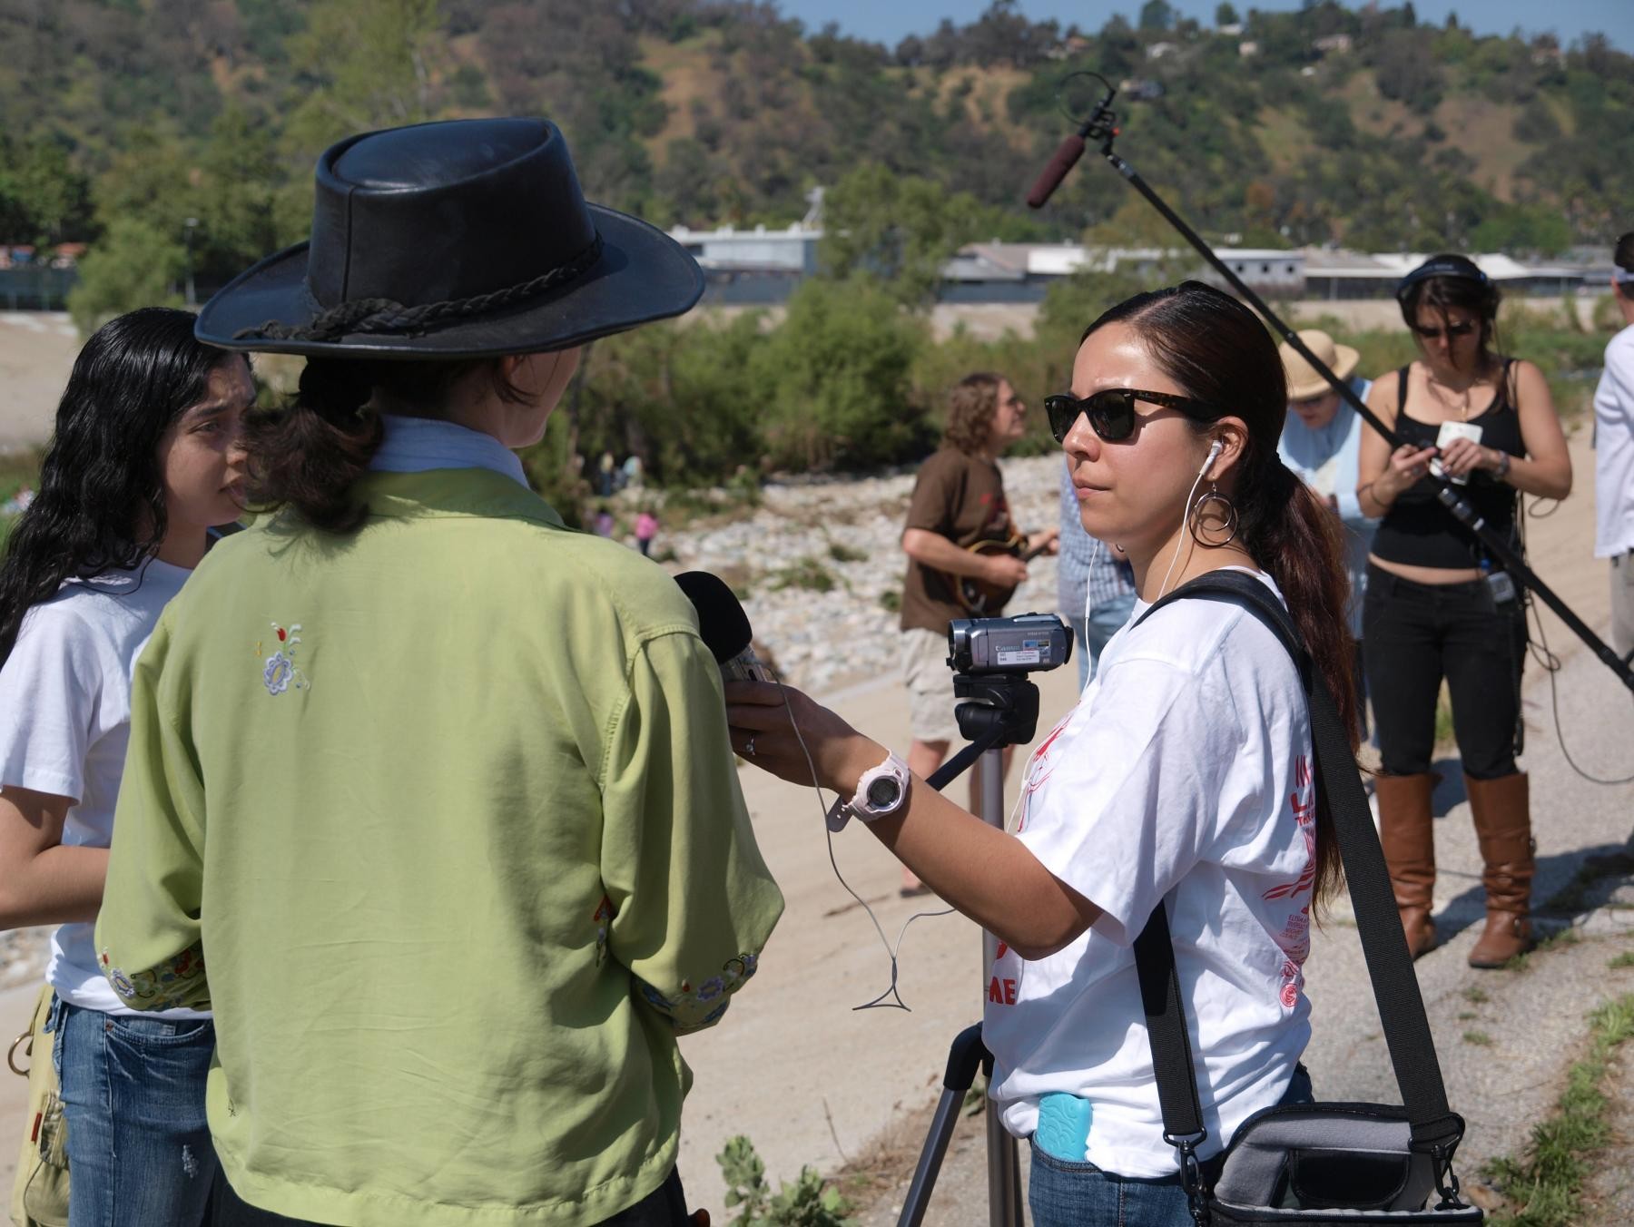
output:
<svg viewBox="0 0 1634 1227"><path fill-rule="evenodd" d="M1368 567L1361 642L1384 774L1430 770L1443 676L1464 774L1497 779L1515 773L1526 663L1520 601L1495 605L1485 580L1413 583Z"/></svg>

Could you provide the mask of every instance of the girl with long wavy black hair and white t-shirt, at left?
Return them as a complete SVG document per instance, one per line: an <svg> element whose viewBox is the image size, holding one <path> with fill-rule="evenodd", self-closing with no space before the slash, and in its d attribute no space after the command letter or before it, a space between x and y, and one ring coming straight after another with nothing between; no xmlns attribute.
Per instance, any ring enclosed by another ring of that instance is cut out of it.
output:
<svg viewBox="0 0 1634 1227"><path fill-rule="evenodd" d="M240 511L239 423L255 386L193 322L145 307L85 343L0 564L0 928L60 925L47 1029L72 1227L201 1222L216 1171L209 1013L136 1015L92 941L137 655L209 529Z"/></svg>

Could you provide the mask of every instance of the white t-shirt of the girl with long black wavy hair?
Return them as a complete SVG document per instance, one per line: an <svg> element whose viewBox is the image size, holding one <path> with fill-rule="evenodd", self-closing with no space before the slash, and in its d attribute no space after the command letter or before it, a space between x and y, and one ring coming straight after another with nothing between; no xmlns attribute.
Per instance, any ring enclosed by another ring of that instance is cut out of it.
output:
<svg viewBox="0 0 1634 1227"><path fill-rule="evenodd" d="M160 611L191 572L149 559L136 570L69 580L23 616L0 668L0 788L72 797L64 846L106 848L131 740L131 673ZM95 925L51 939L46 980L85 1010L129 1015L96 967ZM209 1018L167 1010L165 1018Z"/></svg>

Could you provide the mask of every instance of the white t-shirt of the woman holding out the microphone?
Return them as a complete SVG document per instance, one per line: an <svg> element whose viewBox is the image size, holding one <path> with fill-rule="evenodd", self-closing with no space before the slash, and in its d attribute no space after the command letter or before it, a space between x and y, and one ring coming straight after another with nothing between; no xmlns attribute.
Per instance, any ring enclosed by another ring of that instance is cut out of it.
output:
<svg viewBox="0 0 1634 1227"><path fill-rule="evenodd" d="M1301 964L1315 788L1299 675L1240 606L1181 600L1134 627L1147 608L1136 603L1023 778L1020 840L1105 915L1047 959L1002 948L984 1023L1005 1127L1026 1137L1039 1096L1082 1096L1080 1158L1126 1176L1178 1170L1132 949L1160 900L1209 1131L1203 1158L1283 1098L1310 1036Z"/></svg>

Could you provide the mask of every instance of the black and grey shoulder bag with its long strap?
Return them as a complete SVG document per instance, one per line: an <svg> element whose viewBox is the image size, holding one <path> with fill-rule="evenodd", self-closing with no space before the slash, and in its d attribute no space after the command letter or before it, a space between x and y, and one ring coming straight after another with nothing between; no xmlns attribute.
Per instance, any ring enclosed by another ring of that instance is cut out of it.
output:
<svg viewBox="0 0 1634 1227"><path fill-rule="evenodd" d="M1142 614L1181 598L1227 601L1258 618L1292 655L1310 704L1317 805L1333 815L1340 859L1361 931L1373 995L1402 1091L1400 1108L1381 1103L1304 1103L1266 1108L1237 1129L1226 1152L1198 1162L1208 1137L1186 1036L1185 1003L1163 904L1136 938L1136 967L1152 1069L1163 1109L1163 1140L1180 1152L1180 1173L1199 1227L1271 1224L1482 1222L1458 1196L1453 1153L1464 1119L1446 1104L1441 1065L1425 1018L1418 979L1368 812L1361 776L1333 696L1312 667L1288 611L1245 572L1216 570L1181 585ZM1206 1170L1204 1170L1206 1168ZM1435 1207L1428 1207L1438 1194Z"/></svg>

